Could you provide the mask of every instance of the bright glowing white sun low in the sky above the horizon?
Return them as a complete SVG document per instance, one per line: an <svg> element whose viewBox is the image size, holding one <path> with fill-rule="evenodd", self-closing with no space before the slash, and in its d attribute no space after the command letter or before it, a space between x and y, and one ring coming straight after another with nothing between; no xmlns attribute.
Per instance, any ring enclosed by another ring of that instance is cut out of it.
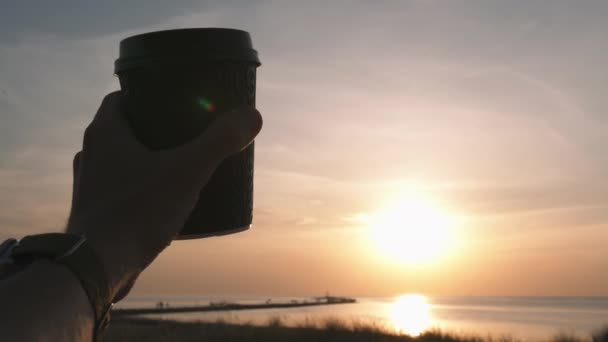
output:
<svg viewBox="0 0 608 342"><path fill-rule="evenodd" d="M445 252L454 226L445 210L420 194L401 196L366 221L379 254L412 265L431 262Z"/></svg>

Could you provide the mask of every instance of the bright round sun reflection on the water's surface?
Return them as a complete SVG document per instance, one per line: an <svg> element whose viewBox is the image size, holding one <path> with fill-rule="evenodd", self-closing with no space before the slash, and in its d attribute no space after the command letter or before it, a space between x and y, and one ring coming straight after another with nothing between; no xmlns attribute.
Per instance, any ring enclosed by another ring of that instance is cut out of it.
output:
<svg viewBox="0 0 608 342"><path fill-rule="evenodd" d="M401 334L418 336L432 324L431 307L425 296L407 294L398 297L390 309L394 329Z"/></svg>

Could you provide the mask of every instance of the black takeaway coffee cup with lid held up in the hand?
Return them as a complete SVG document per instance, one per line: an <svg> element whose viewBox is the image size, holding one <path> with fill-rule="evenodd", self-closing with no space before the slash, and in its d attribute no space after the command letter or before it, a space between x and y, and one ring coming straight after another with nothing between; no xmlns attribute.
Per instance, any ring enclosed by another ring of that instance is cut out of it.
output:
<svg viewBox="0 0 608 342"><path fill-rule="evenodd" d="M255 106L258 66L249 33L193 28L122 40L115 74L126 94L133 133L148 148L160 150L192 140L224 112ZM251 144L219 165L178 239L225 235L251 226L253 151Z"/></svg>

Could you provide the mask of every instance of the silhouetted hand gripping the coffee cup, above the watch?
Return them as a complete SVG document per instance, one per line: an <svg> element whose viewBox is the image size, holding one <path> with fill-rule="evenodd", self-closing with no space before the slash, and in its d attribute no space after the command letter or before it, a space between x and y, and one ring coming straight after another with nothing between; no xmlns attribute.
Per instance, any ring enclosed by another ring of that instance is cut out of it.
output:
<svg viewBox="0 0 608 342"><path fill-rule="evenodd" d="M115 301L179 233L215 167L262 127L259 112L243 107L189 143L151 151L131 133L121 103L120 92L107 95L85 131L67 227L101 257Z"/></svg>

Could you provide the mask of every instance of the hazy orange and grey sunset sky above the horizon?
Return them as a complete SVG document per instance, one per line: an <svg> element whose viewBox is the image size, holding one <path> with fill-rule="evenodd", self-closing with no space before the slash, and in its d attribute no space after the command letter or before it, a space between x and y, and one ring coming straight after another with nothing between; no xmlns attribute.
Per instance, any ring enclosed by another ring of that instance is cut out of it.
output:
<svg viewBox="0 0 608 342"><path fill-rule="evenodd" d="M262 61L254 225L174 242L134 294L608 295L606 16L599 0L4 2L0 238L65 226L122 38L231 27ZM425 262L371 241L365 218L404 193L454 222Z"/></svg>

